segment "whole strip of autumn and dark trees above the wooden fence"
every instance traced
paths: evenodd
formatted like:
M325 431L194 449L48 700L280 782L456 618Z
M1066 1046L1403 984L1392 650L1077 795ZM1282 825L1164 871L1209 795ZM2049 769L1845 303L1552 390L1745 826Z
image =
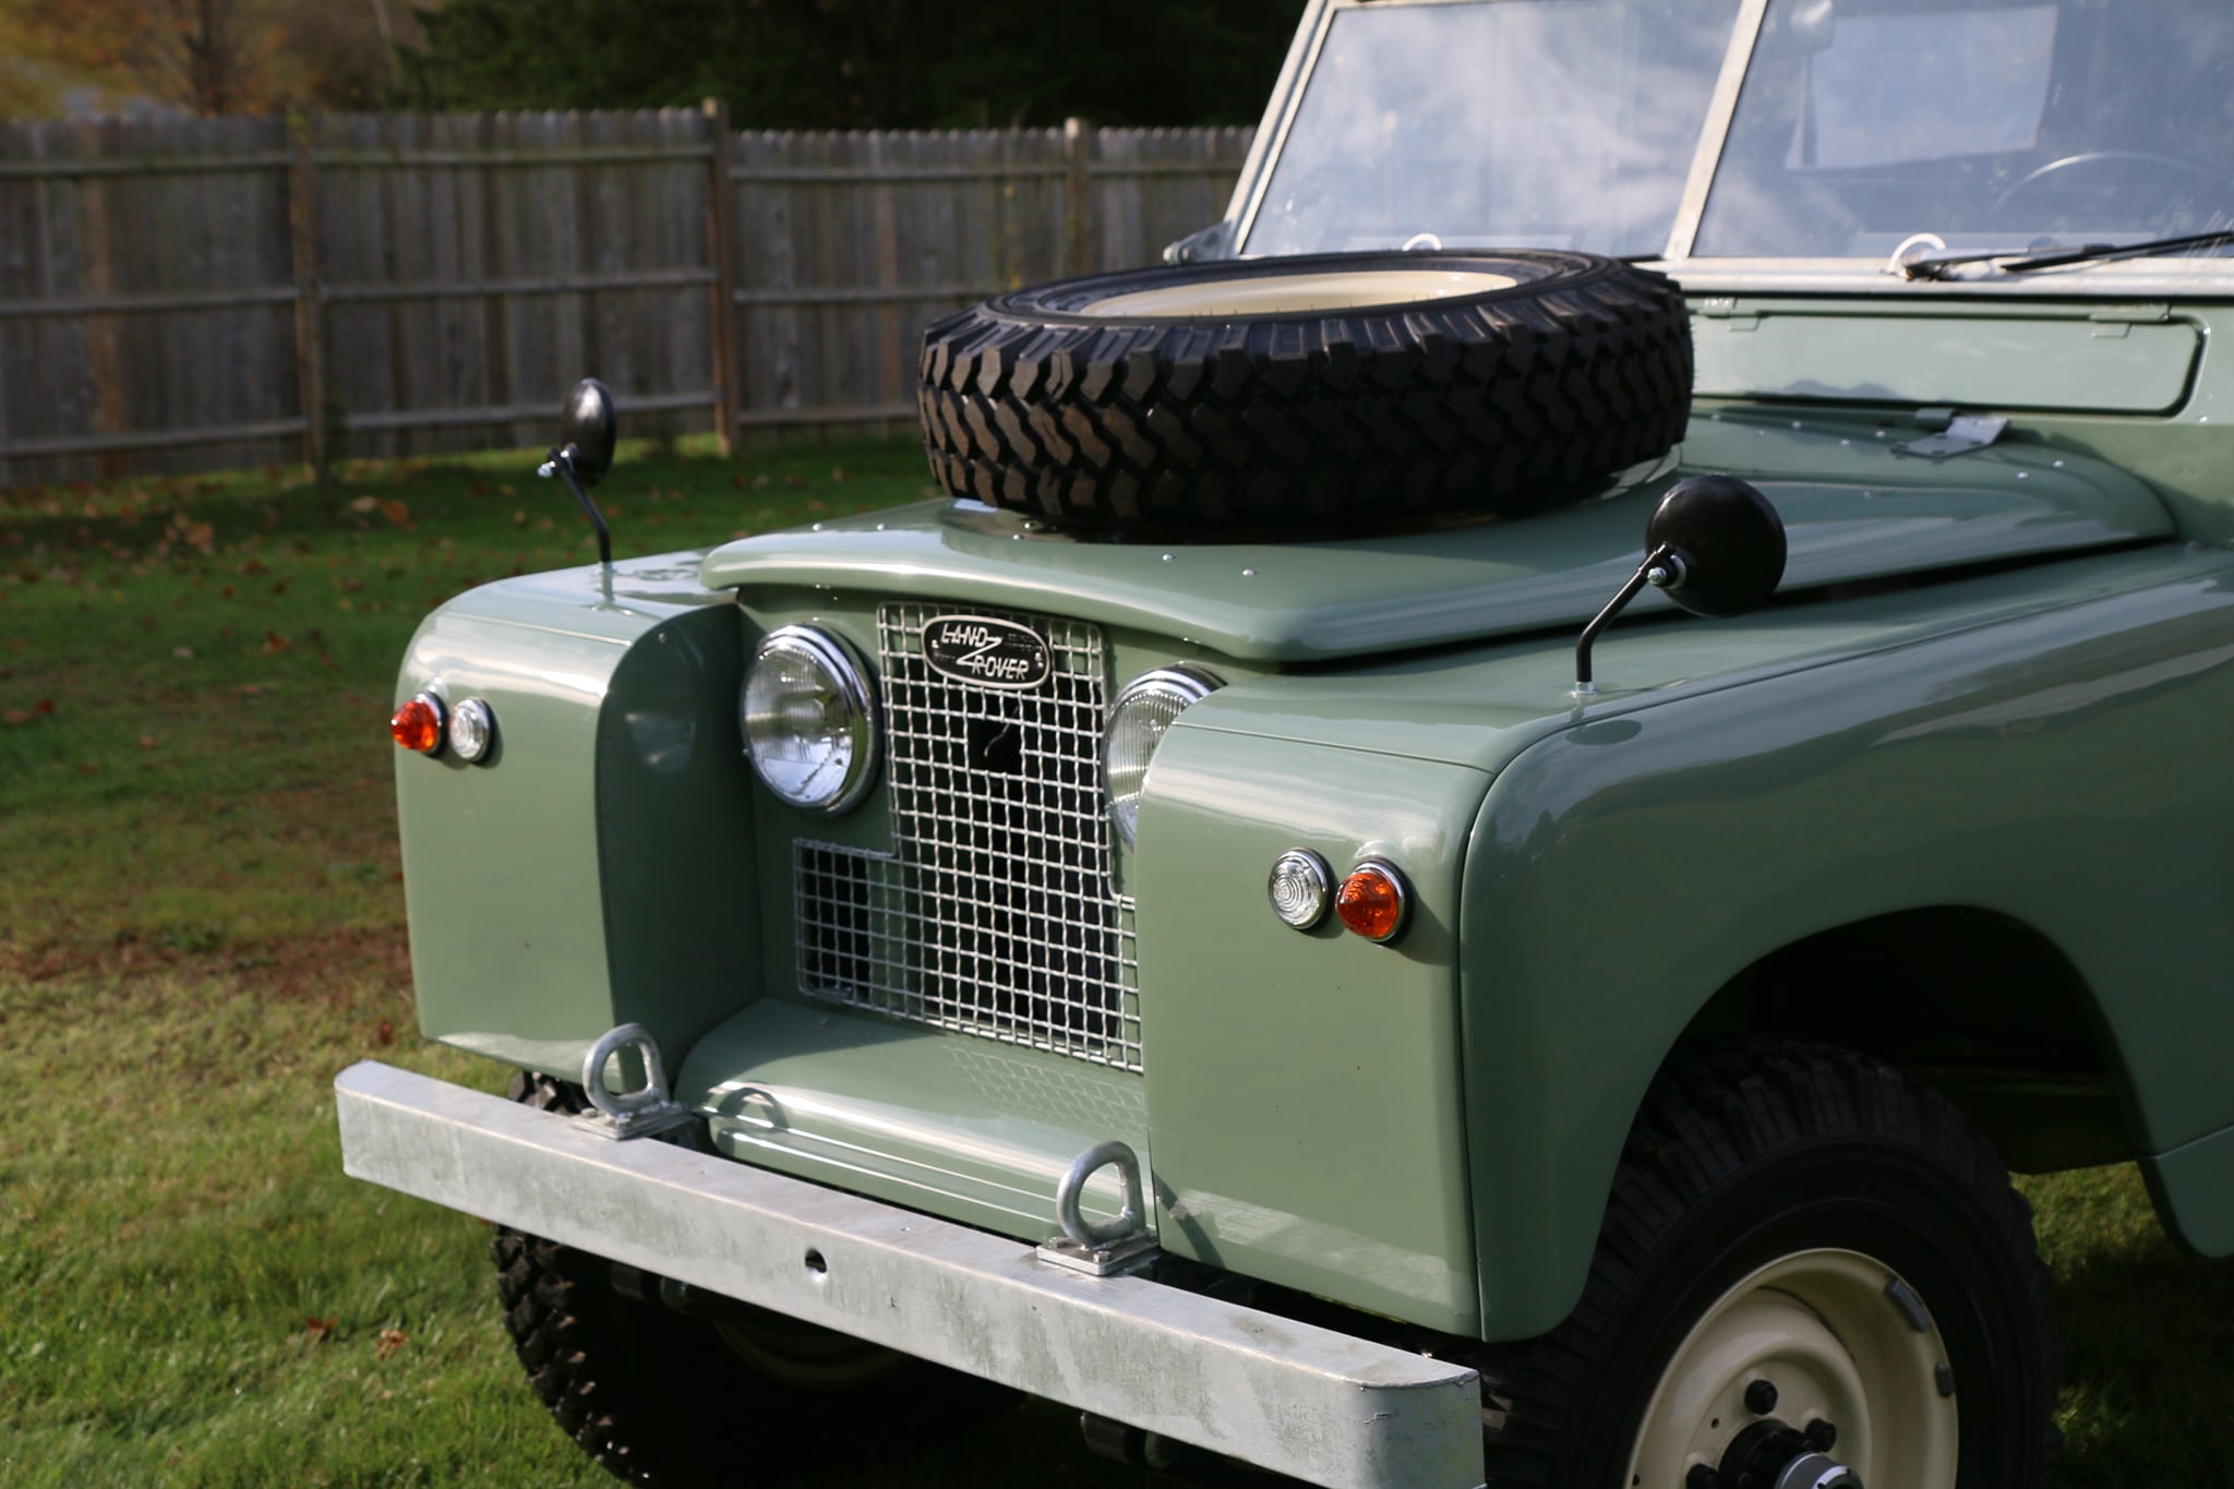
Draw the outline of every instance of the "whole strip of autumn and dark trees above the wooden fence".
M0 116L731 103L746 127L1253 123L1305 0L0 0Z

